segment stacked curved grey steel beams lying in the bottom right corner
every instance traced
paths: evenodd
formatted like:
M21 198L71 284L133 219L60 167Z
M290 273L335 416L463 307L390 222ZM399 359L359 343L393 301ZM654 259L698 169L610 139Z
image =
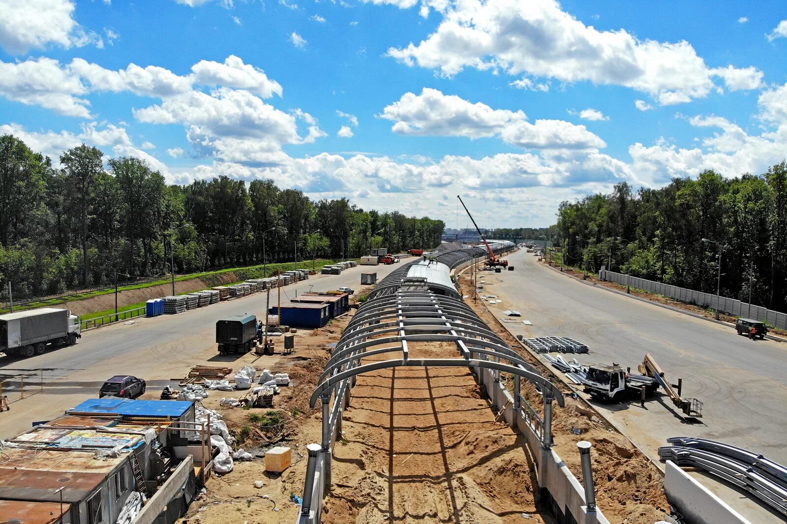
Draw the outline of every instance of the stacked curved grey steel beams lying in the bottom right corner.
M787 515L787 468L744 448L695 437L668 438L662 460L696 467L745 489L781 515Z

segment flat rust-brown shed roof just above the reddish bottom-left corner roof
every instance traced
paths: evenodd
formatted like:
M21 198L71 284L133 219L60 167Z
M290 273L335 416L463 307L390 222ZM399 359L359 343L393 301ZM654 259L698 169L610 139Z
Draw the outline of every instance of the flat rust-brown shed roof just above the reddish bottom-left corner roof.
M6 466L6 464L3 464ZM70 471L13 470L0 467L0 499L77 503L93 493L104 473ZM60 493L54 493L63 488Z

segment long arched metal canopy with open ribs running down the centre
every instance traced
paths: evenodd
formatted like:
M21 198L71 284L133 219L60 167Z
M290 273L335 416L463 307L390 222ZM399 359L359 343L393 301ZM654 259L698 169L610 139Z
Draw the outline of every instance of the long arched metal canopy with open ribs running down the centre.
M511 242L501 242L493 244L492 249L501 253L512 246ZM321 401L323 441L321 445L309 445L301 524L320 522L322 496L331 487L331 451L341 431L343 411L349 407L351 389L357 376L364 373L395 367L468 367L476 377L481 370L491 370L495 382L500 381L501 373L508 373L514 379L515 411L532 421L529 423L543 448L551 448L552 402L557 401L562 407L563 394L490 330L462 301L451 279L453 268L484 259L486 249L471 248L440 253L434 260L403 264L382 279L369 293L368 301L358 308L309 399L312 408L317 400ZM413 271L414 265L420 267ZM450 345L456 351L453 358ZM424 348L449 355L447 358L442 355L432 358L431 354L411 356L411 349L417 353L425 351ZM388 353L397 358L371 359ZM522 379L532 382L542 393L543 418L522 397Z

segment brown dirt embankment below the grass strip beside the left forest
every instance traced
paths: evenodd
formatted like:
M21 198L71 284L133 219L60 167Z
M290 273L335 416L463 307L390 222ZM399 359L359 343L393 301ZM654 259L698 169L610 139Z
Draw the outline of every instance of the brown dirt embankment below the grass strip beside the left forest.
M210 289L212 286L224 286L238 282L238 275L229 271L220 275L212 275L205 279L188 279L175 282L175 293L190 293L191 291L201 291ZM151 298L168 297L172 294L172 283L161 284L161 286L143 287L139 290L125 290L117 293L117 306L120 308L129 304L148 301ZM115 307L115 293L98 295L98 297L84 298L81 301L64 302L58 308L70 309L74 315L86 315L98 311L106 311Z

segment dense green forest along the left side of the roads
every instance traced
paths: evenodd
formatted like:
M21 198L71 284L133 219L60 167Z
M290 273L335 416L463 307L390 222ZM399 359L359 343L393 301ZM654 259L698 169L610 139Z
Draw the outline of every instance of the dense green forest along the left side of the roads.
M364 211L347 199L312 201L271 180L220 176L168 186L134 157L104 163L100 149L65 151L61 168L13 135L0 137L0 296L14 298L179 273L314 256L357 257L372 247L429 248L445 224Z

